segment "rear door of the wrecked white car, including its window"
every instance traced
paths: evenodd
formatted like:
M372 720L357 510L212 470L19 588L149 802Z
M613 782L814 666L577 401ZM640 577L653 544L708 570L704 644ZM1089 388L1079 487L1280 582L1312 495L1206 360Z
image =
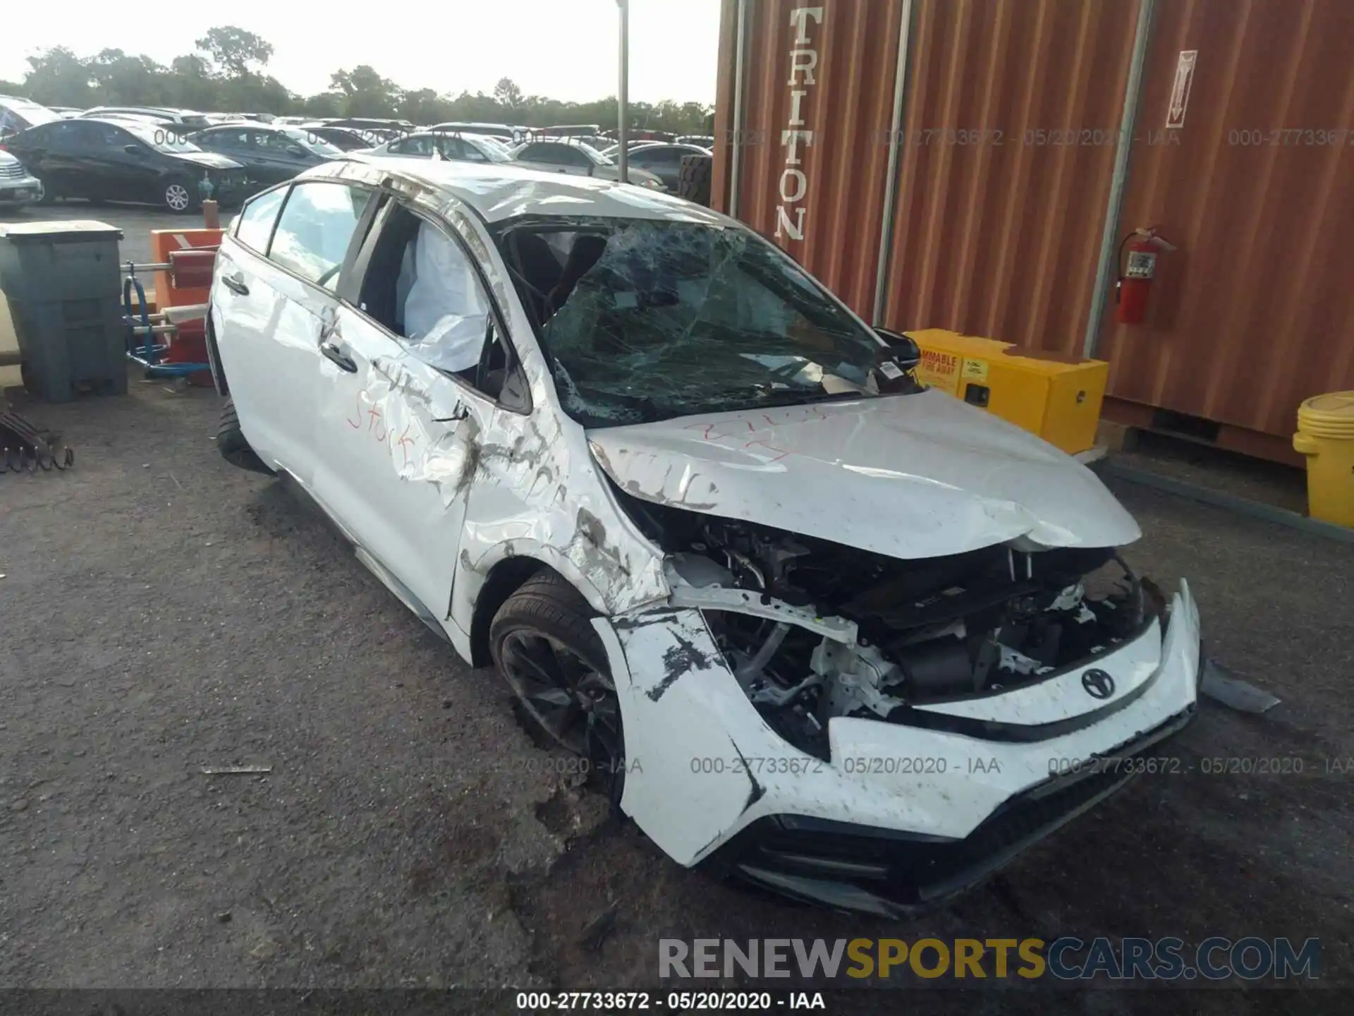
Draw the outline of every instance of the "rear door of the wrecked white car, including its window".
M246 203L217 259L213 325L240 425L265 462L307 486L321 347L371 198L336 180L265 191Z

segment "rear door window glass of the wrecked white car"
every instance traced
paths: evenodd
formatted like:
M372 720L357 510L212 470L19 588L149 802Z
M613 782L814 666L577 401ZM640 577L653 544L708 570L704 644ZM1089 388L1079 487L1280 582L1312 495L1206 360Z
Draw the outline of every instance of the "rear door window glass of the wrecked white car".
M303 279L334 289L368 198L367 191L341 183L297 184L278 218L268 257Z

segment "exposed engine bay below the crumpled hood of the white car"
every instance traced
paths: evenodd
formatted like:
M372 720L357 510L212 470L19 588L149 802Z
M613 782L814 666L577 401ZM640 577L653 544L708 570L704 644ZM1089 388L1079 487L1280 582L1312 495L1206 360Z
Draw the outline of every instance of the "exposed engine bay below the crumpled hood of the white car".
M1033 684L1164 614L1160 591L1112 547L904 561L623 497L751 703L823 759L833 717L906 723L913 706ZM726 591L747 608L720 608Z

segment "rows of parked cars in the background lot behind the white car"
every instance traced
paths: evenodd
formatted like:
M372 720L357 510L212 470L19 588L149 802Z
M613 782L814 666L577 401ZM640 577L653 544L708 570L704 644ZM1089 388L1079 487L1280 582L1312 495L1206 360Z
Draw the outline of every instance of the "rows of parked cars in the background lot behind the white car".
M20 108L28 126L0 140L0 202L79 198L145 202L183 213L207 199L230 206L310 167L356 156L520 163L607 180L620 176L619 145L596 125L536 131L494 123L413 129L389 121L264 123L232 114L135 107L43 117L43 108ZM682 156L709 154L708 146L693 141L705 138L631 141L627 180L676 192Z

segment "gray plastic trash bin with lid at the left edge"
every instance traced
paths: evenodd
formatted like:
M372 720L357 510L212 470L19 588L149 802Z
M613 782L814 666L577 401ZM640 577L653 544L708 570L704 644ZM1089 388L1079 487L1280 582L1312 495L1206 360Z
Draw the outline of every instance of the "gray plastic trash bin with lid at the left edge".
M23 383L49 402L80 391L126 394L118 241L106 222L20 222L0 232L0 290L9 301Z

